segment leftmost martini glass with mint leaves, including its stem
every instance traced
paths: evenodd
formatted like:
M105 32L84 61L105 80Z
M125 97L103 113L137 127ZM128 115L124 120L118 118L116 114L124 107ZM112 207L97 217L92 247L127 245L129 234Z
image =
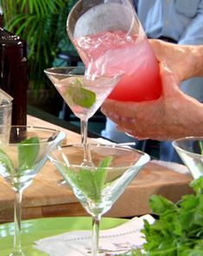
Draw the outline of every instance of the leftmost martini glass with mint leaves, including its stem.
M14 247L10 256L24 256L21 248L22 193L40 171L48 153L65 134L50 128L0 127L0 175L15 191Z

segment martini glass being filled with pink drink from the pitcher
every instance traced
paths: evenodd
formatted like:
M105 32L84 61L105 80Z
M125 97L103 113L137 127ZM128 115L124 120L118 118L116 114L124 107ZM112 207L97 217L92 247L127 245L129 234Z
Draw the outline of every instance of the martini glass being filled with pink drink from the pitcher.
M84 165L91 165L87 144L87 123L105 98L111 93L122 71L111 70L106 74L92 74L84 67L61 67L45 69L48 78L63 97L74 115L80 119L81 143L84 145Z

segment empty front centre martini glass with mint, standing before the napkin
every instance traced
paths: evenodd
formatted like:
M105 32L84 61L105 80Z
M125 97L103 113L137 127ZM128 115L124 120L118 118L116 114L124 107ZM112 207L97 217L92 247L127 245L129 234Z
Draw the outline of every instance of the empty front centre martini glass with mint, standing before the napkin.
M92 167L83 166L83 145L67 145L49 154L73 194L92 215L92 256L98 256L101 216L149 161L149 155L117 145L89 144Z

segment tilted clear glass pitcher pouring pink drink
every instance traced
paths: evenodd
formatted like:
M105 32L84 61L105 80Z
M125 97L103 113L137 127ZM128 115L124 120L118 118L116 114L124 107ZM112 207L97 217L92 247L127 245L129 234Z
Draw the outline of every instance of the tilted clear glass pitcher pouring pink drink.
M85 12L84 8L82 1L74 6L67 32L91 72L124 70L109 98L134 102L158 99L162 94L159 63L131 3L100 1L86 6Z

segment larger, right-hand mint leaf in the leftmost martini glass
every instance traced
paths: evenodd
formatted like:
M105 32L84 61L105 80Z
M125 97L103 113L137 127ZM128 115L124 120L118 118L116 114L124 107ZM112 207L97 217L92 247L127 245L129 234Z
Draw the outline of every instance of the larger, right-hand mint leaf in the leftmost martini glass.
M18 145L18 167L19 171L27 170L33 168L36 158L38 157L40 151L38 137L31 137L19 143ZM23 146L23 144L28 144ZM35 145L29 145L35 144Z

